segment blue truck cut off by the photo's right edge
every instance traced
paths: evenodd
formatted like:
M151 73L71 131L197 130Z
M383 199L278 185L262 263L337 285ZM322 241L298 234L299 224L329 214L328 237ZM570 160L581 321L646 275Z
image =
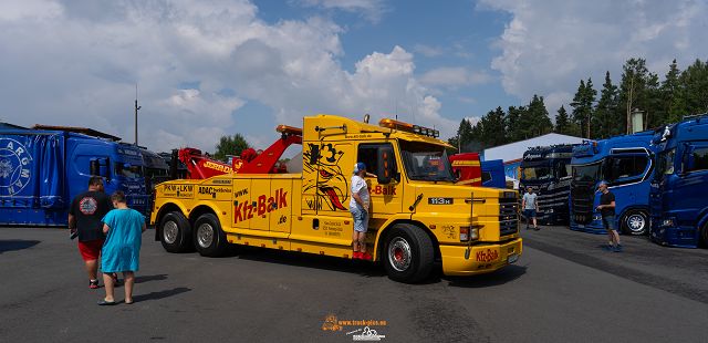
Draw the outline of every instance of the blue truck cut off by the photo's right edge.
M708 247L708 114L656 132L650 238L662 245Z

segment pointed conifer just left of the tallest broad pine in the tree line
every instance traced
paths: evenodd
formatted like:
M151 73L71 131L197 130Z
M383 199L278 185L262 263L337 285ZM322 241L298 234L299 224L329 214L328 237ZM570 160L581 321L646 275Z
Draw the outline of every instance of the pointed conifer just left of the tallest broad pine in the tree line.
M622 134L621 125L623 116L618 112L617 86L612 84L610 72L605 72L605 83L600 92L600 101L595 107L595 115L592 118L593 138L607 138Z

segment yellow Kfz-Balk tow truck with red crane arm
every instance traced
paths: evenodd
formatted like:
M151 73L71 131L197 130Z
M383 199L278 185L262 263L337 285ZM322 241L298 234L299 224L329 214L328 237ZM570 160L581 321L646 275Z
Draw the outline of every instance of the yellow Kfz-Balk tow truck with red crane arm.
M436 262L447 276L486 273L521 256L517 191L455 185L437 131L320 114L278 132L283 142L301 138L287 170L242 173L249 168L235 160L223 175L157 186L150 224L167 251L216 257L242 245L351 259L350 184L364 162L376 175L366 177L367 247L391 279L421 281ZM261 162L273 154L262 155L246 163L250 170L270 170Z

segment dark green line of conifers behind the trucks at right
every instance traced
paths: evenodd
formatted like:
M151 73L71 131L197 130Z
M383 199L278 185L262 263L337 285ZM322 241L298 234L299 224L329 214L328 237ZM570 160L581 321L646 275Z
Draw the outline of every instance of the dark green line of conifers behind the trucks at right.
M628 134L633 124L649 129L708 112L708 62L696 60L681 71L674 60L662 81L647 69L645 59L627 60L622 71L618 84L606 72L600 92L592 77L580 80L570 107L558 108L555 124L543 96L534 94L528 105L497 107L473 124L464 118L448 143L467 153L552 132L602 139ZM633 123L637 116L642 121Z

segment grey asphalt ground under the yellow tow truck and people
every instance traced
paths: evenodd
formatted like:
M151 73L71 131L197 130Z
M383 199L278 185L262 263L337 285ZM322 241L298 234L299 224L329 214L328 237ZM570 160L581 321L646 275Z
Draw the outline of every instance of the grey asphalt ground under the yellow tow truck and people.
M353 342L367 324L382 342L708 342L708 250L643 237L616 253L603 236L522 230L516 264L403 284L320 256L173 254L153 233L135 303L98 306L66 230L0 228L0 342Z

